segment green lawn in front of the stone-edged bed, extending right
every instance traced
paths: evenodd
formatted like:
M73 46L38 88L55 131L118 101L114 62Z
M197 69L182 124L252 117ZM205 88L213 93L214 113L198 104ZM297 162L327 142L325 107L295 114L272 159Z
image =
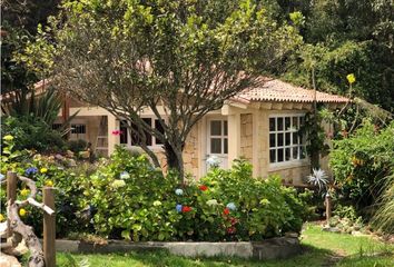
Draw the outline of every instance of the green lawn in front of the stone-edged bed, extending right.
M287 260L256 261L238 258L184 258L165 251L126 255L58 254L58 266L128 267L128 266L394 266L394 246L370 237L324 233L306 225L302 244L304 254Z

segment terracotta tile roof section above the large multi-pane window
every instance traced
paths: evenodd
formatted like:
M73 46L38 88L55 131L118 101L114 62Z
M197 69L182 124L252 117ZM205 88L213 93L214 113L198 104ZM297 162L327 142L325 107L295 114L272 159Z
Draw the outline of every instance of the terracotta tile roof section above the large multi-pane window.
M257 88L248 88L236 96L240 101L279 101L279 102L313 102L314 90L307 90L290 83L272 79ZM316 92L318 102L347 102L348 99L337 95Z

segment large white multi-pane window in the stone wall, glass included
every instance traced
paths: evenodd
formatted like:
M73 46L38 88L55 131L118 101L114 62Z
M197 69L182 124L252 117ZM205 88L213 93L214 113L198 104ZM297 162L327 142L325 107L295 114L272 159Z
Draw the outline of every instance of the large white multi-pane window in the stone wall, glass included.
M305 158L305 138L299 134L304 115L269 117L269 162L280 164Z

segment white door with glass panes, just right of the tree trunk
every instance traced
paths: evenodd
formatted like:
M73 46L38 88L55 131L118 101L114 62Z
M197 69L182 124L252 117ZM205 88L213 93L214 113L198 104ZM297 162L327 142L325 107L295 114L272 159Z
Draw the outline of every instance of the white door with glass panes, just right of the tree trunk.
M207 160L215 158L223 169L228 168L228 121L226 117L207 119ZM206 162L206 168L209 164Z

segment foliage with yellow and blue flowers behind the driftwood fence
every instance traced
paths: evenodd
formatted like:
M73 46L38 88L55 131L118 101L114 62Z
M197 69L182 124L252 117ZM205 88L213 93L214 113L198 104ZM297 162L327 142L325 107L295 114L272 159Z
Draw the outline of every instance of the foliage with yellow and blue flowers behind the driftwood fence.
M89 230L82 218L77 217L79 200L83 197L80 186L83 185L87 174L78 175L77 170L68 169L67 165L56 160L52 156L41 156L29 150L17 150L18 139L3 137L3 147L1 154L0 172L6 175L7 171L16 171L19 175L27 176L36 181L36 186L40 191L45 185L52 184L57 190L56 195L56 220L57 236L67 236L70 231ZM29 174L29 169L35 171ZM35 172L35 174L33 174ZM18 199L26 199L23 194L26 185L18 184ZM6 210L6 190L1 188L1 210ZM42 201L42 195L37 195L37 200ZM27 216L22 217L23 221L35 228L35 233L40 236L42 233L42 212L37 208L28 206Z

